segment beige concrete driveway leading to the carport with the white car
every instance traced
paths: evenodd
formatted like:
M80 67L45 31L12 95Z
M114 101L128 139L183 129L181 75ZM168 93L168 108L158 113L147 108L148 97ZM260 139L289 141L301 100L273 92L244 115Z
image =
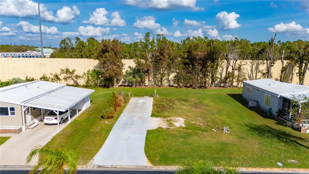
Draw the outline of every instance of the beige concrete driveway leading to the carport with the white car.
M83 111L83 110L82 110ZM80 114L82 111L78 111ZM71 121L76 118L76 110L72 110ZM60 124L60 130L69 124L68 119ZM34 129L26 129L19 134L2 133L2 137L11 137L0 146L0 165L26 165L26 159L30 150L36 145L44 146L53 136L58 133L57 124L44 125L43 121ZM29 165L36 165L38 157L34 158Z

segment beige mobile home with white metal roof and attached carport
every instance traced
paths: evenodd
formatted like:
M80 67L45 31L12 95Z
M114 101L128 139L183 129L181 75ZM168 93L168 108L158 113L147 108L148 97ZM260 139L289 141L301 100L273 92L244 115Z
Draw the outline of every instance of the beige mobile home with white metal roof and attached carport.
M93 89L47 81L33 81L0 88L0 133L34 128L47 111L85 110ZM59 120L57 118L57 120ZM69 117L70 123L70 117ZM59 122L58 122L59 131Z

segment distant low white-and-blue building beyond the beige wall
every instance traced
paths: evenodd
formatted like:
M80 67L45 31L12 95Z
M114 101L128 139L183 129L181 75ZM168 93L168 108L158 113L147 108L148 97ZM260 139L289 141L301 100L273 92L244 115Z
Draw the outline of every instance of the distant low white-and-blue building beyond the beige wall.
M44 48L43 54L44 58L49 58L50 54L54 52L53 49ZM34 51L27 51L27 52L0 52L0 57L4 58L39 58L41 57L41 49L35 48Z

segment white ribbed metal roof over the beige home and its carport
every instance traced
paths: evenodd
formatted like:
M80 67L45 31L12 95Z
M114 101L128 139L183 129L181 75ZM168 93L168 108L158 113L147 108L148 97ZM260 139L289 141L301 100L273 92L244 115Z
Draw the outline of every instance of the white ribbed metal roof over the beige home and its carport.
M0 102L66 111L93 92L93 89L33 81L0 88Z

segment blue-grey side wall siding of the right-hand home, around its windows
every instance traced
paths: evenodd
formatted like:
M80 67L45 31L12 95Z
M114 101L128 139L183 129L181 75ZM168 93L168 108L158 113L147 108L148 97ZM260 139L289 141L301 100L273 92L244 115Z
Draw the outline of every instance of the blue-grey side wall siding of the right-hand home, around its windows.
M246 86L252 88L252 94L248 94L246 92ZM243 98L246 99L246 100L256 100L258 102L257 106L260 107L262 110L267 111L269 109L269 107L264 105L264 95L268 94L271 97L270 98L270 107L272 108L273 115L277 115L277 111L278 111L279 104L280 104L280 102L279 102L280 98L278 98L277 96L275 96L271 93L265 92L261 89L258 89L258 90L259 91L256 91L256 88L254 86L243 84ZM281 106L282 106L282 101L281 101Z

